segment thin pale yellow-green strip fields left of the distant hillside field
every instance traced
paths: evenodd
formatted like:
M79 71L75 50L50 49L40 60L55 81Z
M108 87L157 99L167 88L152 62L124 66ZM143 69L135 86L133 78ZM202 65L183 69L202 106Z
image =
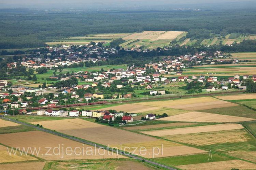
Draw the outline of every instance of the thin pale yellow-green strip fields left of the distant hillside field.
M54 40L53 42L47 42L47 45L86 45L90 44L90 41L109 43L117 38L124 38L131 33L117 33L117 34L91 34L82 37L69 37L65 39Z

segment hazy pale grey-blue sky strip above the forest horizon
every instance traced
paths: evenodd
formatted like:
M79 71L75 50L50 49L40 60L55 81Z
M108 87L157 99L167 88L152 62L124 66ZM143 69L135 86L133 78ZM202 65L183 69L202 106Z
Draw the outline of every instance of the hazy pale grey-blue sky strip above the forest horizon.
M28 7L28 8L159 8L159 7L200 7L211 4L218 6L230 4L234 6L255 3L252 0L0 0L0 8Z

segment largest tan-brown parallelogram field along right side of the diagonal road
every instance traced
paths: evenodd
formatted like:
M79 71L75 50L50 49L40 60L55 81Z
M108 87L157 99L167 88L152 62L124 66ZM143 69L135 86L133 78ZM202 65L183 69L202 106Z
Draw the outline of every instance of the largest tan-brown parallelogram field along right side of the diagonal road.
M37 122L33 123L37 124ZM125 149L127 152L134 151L134 148L132 147L145 147L147 149L146 155L142 155L139 150L134 151L134 154L147 158L154 157L153 147L160 147L162 144L165 150L164 153L155 155L155 157L205 152L204 150L183 146L178 143L160 140L146 135L125 131L82 119L66 119L38 123L42 124L44 128L56 130L60 133L96 142L101 145L109 145L110 147L116 147L119 149L130 147Z

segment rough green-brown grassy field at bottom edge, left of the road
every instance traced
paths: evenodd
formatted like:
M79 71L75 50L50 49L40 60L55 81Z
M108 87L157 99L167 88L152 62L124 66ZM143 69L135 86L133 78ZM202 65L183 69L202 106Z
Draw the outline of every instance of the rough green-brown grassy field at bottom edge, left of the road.
M149 164L143 164L136 160L72 160L72 161L57 161L47 162L45 165L47 169L141 169L151 170L157 169Z

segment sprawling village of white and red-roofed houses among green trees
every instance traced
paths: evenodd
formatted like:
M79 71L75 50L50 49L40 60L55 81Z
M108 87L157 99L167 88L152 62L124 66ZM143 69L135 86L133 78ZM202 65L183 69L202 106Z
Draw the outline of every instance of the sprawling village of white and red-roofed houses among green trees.
M98 43L97 43L98 44ZM133 50L133 49L132 49ZM165 50L165 49L159 49ZM0 102L1 110L11 114L11 109L18 109L18 114L31 114L33 107L54 107L57 105L90 103L101 100L110 101L121 99L145 98L145 96L157 97L165 95L177 95L169 90L173 83L182 82L179 89L187 90L185 93L214 92L223 90L246 90L245 80L252 79L256 82L256 75L233 75L223 78L215 75L183 75L186 69L195 65L214 65L222 62L226 64L237 64L239 60L225 60L230 57L220 51L200 52L195 55L166 56L157 63L147 63L144 67L127 66L126 68L113 68L108 70L66 72L61 71L69 66L76 65L80 68L91 63L99 63L108 60L108 55L116 53L117 49L105 49L104 47L87 46L61 46L47 47L47 53L35 53L37 57L21 58L21 65L26 69L37 70L42 75L48 70L55 70L53 75L42 78L52 83L43 83L39 87L28 87L24 85L13 85L9 80L0 80ZM147 52L147 50L143 51ZM88 55L89 54L89 55ZM91 57L94 56L95 57ZM104 55L105 54L105 55ZM90 57L88 57L88 56ZM104 55L101 57L100 55ZM59 57L55 57L59 56ZM17 63L9 63L8 67L13 69ZM59 72L57 72L59 69ZM35 75L35 74L34 74ZM23 80L17 80L23 81ZM47 82L47 81L46 81ZM81 84L84 83L84 84ZM141 92L134 92L140 90ZM27 108L27 109L26 109ZM42 111L39 115L51 116L83 116L79 112L51 112ZM105 113L100 113L102 117ZM111 115L105 115L109 116ZM114 116L113 116L114 118Z

